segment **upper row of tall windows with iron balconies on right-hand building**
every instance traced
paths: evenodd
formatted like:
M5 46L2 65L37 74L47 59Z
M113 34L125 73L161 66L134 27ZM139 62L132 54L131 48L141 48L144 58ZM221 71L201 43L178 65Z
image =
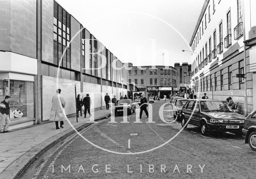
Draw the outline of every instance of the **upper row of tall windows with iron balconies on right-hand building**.
M242 9L241 9L241 0L238 0L238 25L234 28L234 39L238 40L243 35L243 25L242 25ZM226 22L227 22L227 36L224 38L224 47L229 48L231 43L231 14L230 10L226 13ZM199 31L200 32L200 31ZM200 33L201 36L201 33ZM195 41L196 42L196 41ZM192 44L192 52L194 52L196 43ZM205 46L202 47L202 51L198 53L198 56L193 62L193 72L192 75L197 73L202 69L208 62L211 62L212 59L217 57L217 53L221 54L223 52L223 32L222 32L222 20L219 23L219 44L216 44L216 29L213 32L213 50L212 50L212 37L209 37L209 41L206 42ZM198 41L197 41L198 43ZM209 44L209 46L208 46ZM216 46L217 45L217 46ZM208 48L209 47L209 48ZM208 55L209 52L209 55ZM204 56L205 55L205 56Z

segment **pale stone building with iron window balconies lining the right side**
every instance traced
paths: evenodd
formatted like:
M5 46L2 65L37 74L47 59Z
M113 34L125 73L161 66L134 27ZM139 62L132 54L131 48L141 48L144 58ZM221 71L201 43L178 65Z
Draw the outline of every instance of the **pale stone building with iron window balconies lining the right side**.
M243 5L244 3L244 5ZM202 97L226 100L231 96L239 102L238 110L244 112L248 101L248 112L256 107L256 14L252 0L205 0L196 28L190 41L192 51L193 90ZM244 66L244 43L246 66ZM254 47L251 47L253 46ZM244 94L245 79L236 74L245 74L247 98Z

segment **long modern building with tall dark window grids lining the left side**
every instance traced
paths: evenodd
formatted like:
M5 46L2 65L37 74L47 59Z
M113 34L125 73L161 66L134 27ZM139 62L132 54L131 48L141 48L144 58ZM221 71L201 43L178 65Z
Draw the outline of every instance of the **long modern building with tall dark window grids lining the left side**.
M11 110L23 113L10 130L48 120L57 88L68 116L76 113L74 85L96 109L105 105L101 92L127 93L124 64L54 0L2 1L0 22L0 100L11 96Z

